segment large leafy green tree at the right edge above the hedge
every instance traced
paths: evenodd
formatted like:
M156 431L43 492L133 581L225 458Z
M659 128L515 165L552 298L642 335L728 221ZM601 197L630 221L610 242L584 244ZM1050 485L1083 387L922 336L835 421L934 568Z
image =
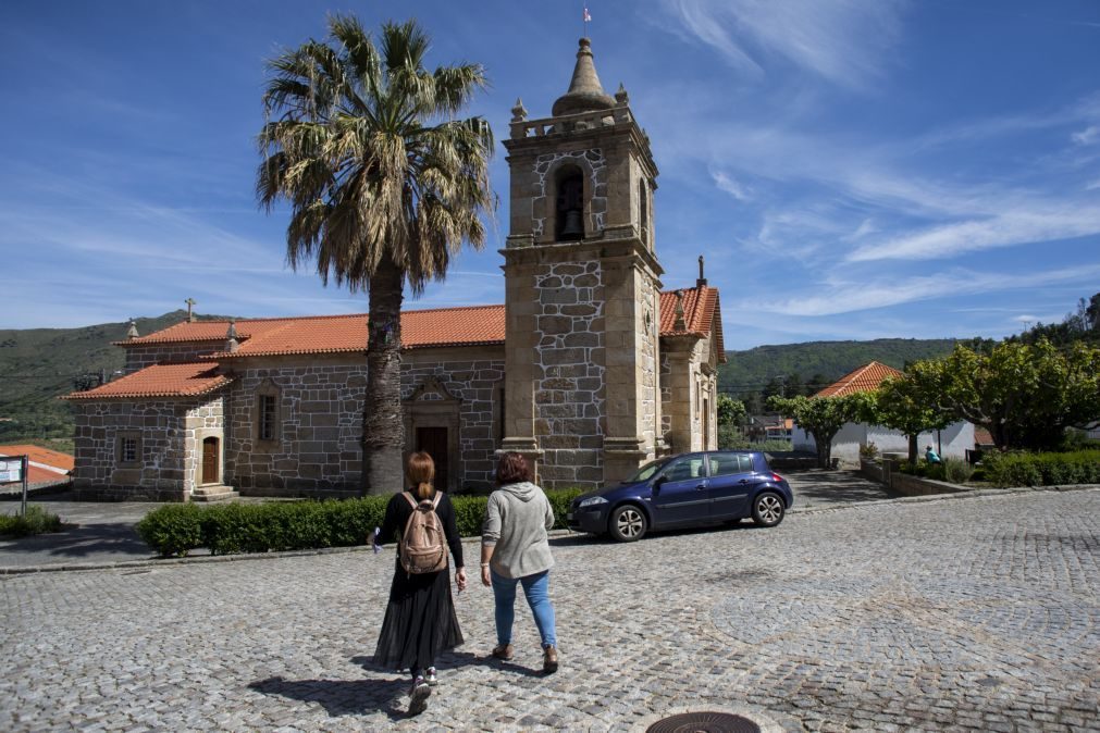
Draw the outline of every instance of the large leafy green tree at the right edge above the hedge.
M1001 451L1055 448L1066 427L1100 419L1100 349L1080 342L1058 351L1045 338L1005 341L988 353L960 344L908 377L936 397L936 411L986 427Z

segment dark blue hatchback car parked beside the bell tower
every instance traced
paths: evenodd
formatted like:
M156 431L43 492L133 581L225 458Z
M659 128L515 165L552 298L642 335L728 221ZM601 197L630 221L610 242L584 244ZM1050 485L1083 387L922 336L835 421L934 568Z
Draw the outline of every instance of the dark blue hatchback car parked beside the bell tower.
M759 526L776 526L793 503L791 486L759 451L706 451L659 458L618 486L582 495L565 520L575 532L634 542L650 529L746 517Z

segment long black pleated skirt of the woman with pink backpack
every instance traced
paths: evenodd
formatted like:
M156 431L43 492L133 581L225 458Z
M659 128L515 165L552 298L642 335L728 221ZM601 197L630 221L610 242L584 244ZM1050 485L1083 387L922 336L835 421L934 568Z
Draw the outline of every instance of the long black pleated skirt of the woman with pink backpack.
M450 565L439 573L410 575L397 562L374 663L389 669L427 669L440 652L462 641Z

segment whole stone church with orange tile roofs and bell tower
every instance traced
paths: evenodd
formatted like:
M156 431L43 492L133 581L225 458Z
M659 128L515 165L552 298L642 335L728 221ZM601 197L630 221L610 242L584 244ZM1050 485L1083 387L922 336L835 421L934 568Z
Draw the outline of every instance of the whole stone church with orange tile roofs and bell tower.
M718 292L702 257L694 287L662 290L649 138L626 90L604 91L587 38L551 115L517 101L504 145L505 302L402 314L407 449L462 491L492 486L501 449L547 488L591 488L714 448ZM365 314L131 329L124 375L65 398L77 493L356 493L366 335Z

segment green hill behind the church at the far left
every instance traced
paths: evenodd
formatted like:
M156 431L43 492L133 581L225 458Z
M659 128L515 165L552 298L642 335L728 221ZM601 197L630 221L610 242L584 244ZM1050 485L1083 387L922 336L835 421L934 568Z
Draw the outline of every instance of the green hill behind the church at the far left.
M199 315L222 320L224 315ZM150 334L187 319L180 309L135 320ZM122 368L125 354L111 342L124 341L129 322L81 329L0 330L0 443L13 440L72 438L73 417L58 400L81 380L98 384L100 374Z

